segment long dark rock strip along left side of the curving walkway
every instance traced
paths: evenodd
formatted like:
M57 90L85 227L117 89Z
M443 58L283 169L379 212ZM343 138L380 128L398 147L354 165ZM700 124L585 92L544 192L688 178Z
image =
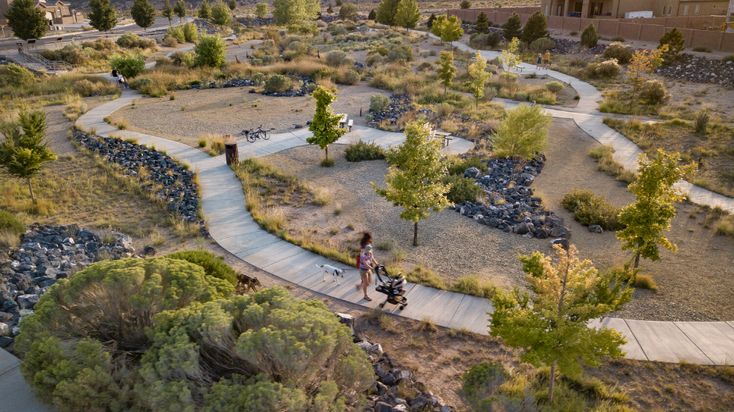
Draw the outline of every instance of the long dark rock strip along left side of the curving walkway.
M139 144L113 137L92 136L80 130L75 130L73 136L86 149L117 164L126 175L140 180L143 190L154 193L169 211L186 222L201 223L194 172L168 155Z

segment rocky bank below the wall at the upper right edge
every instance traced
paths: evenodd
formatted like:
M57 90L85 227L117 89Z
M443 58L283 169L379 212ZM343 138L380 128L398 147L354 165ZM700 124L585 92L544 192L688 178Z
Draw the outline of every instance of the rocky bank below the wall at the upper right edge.
M679 61L662 66L657 73L675 80L734 87L734 61L683 54Z

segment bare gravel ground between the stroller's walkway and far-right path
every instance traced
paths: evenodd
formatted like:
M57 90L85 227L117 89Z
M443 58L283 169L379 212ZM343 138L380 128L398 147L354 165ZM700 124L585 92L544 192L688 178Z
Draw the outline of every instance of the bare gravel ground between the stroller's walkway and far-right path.
M588 232L560 205L563 196L573 189L592 190L617 206L633 200L623 184L596 170L596 163L587 155L596 144L571 121L554 120L546 151L548 161L534 189L551 210L565 219L581 256L604 269L624 264L630 254L620 249L614 233ZM353 242L354 233L368 230L375 237L378 260L404 255L408 267L424 265L446 279L478 275L502 287L523 285L518 254L550 252L546 240L505 234L450 210L432 214L420 223L421 245L413 248L411 225L400 219L400 209L378 197L370 186L373 181L383 184L386 164L348 163L343 151L343 146L330 150L336 159L335 167L330 169L318 166L322 153L314 147L295 148L263 159L331 192L332 203L323 208L284 208L289 226L316 230L314 236L331 243ZM338 214L334 213L336 209ZM705 227L705 214L699 209L685 204L679 207L669 233L678 245L678 253L663 251L661 261L643 261L641 265L643 273L655 278L657 292L638 290L620 316L655 320L734 318L734 239L714 235Z

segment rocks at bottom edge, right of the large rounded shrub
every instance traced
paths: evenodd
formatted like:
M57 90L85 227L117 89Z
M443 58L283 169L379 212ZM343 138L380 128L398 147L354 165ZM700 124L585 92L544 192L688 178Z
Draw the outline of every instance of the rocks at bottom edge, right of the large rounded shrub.
M365 351L377 376L367 395L366 412L454 411L427 390L425 384L416 381L413 372L394 362L379 343L369 342L355 334L352 316L342 313L337 313L337 316L352 329L354 342Z

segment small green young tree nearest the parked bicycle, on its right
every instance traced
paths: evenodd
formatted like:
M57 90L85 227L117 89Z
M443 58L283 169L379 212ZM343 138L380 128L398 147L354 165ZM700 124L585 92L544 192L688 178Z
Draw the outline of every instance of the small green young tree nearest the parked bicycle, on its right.
M312 94L316 100L316 113L313 115L308 130L313 136L306 139L309 144L316 144L324 151L324 166L329 165L329 145L339 140L347 132L347 129L339 126L341 116L334 114L331 103L336 95L324 87L317 87Z

